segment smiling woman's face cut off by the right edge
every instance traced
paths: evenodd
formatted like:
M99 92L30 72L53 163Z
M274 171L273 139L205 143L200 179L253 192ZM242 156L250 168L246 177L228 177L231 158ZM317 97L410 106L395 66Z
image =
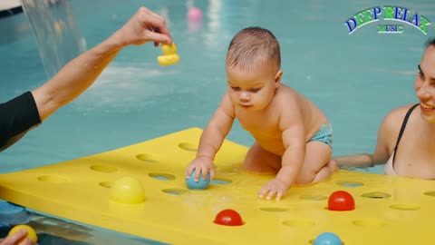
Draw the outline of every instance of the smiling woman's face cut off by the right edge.
M430 45L423 54L419 69L414 87L420 100L421 117L435 123L435 45Z

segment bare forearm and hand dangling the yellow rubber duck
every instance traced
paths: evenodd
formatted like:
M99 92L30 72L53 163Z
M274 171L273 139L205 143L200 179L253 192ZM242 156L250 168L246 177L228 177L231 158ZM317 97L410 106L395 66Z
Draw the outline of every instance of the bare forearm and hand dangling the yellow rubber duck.
M50 81L32 91L41 121L91 86L123 47L150 41L155 45L172 43L165 19L148 8L141 7L102 44L73 59Z

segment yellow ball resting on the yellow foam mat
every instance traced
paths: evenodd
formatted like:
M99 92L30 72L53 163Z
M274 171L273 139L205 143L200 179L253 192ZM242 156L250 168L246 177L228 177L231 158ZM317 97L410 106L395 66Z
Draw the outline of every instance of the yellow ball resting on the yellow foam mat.
M111 201L136 204L145 199L140 181L132 177L123 177L111 186Z

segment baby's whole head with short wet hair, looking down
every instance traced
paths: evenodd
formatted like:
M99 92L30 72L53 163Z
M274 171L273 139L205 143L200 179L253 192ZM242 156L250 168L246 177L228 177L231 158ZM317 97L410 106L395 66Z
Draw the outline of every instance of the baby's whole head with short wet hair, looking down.
M231 40L227 52L228 94L235 106L265 108L281 82L279 43L269 30L247 27Z

